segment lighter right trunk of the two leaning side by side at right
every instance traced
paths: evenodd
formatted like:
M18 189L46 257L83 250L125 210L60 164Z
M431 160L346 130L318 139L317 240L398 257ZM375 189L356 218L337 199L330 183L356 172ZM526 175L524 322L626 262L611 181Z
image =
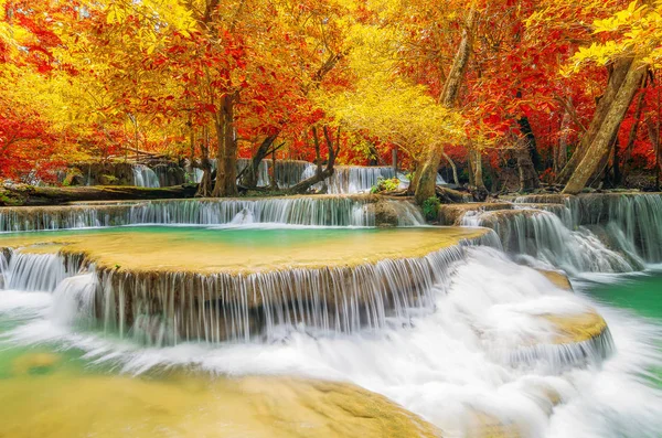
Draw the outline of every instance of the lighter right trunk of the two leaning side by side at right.
M639 60L630 62L628 73L609 106L597 135L594 137L584 153L584 158L573 172L570 180L563 191L564 193L579 193L586 186L591 174L598 169L605 154L609 153L611 141L618 133L618 129L620 128L637 90L641 86L641 81L645 73L647 68Z

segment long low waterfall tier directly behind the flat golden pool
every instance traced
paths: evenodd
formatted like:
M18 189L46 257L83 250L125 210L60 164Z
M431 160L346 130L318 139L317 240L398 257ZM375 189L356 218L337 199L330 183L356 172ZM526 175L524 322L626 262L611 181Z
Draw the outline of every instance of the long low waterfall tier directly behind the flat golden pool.
M238 223L412 226L423 225L425 221L410 202L375 195L162 200L0 209L0 233L137 224Z

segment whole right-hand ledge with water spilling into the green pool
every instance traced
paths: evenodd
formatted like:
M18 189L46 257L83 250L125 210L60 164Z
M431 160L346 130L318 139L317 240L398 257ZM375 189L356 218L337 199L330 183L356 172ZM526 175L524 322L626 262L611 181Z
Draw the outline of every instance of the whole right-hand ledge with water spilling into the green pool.
M570 273L626 273L662 260L662 195L521 196L442 206L446 224L487 226L503 248Z

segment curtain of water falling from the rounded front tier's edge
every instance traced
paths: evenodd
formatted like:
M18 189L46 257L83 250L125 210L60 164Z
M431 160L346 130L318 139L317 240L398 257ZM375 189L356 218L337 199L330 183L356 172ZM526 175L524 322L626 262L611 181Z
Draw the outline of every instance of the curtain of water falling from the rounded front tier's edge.
M82 257L14 250L6 275L7 289L53 292L60 323L99 319L108 333L159 345L270 342L301 324L319 334L353 333L433 312L465 253L458 245L356 266L197 275L99 269Z

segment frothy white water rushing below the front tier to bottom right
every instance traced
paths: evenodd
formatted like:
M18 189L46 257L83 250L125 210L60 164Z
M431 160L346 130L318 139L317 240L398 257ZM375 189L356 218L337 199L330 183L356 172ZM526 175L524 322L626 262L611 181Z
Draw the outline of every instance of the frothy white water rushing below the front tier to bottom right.
M78 348L93 363L114 363L128 373L188 365L229 375L350 381L424 416L445 437L465 436L477 410L515 425L523 437L658 436L662 395L645 377L650 368L662 366L659 327L563 292L495 250L467 250L448 293L437 293L434 312L412 317L406 327L394 318L377 332L312 334L289 328L268 344L154 349L67 330L44 316L25 321L6 339ZM523 340L545 341L554 334L536 316L551 310L574 314L587 307L597 308L611 327L617 350L606 361L558 367L544 356L519 365L504 359ZM549 394L560 404L554 406Z

